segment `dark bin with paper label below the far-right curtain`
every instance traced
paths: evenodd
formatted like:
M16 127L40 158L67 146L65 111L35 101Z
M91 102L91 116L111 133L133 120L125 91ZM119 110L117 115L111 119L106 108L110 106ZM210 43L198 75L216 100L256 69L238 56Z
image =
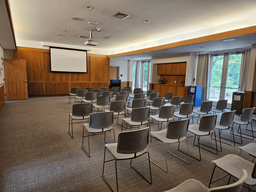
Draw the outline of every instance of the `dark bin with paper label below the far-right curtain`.
M235 114L242 115L244 105L244 92L234 91L232 96L231 110L236 110Z

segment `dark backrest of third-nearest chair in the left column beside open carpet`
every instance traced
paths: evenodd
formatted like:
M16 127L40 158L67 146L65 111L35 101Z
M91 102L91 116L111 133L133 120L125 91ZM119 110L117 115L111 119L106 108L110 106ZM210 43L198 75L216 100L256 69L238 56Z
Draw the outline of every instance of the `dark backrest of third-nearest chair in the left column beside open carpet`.
M72 107L72 115L85 117L93 113L93 104L92 103L81 103L81 104L73 104Z

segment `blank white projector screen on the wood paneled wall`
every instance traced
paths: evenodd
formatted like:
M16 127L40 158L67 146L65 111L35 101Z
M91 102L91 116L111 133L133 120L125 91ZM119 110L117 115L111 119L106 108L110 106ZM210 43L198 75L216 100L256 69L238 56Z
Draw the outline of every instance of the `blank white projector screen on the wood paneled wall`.
M50 47L51 72L87 73L87 52L67 48Z

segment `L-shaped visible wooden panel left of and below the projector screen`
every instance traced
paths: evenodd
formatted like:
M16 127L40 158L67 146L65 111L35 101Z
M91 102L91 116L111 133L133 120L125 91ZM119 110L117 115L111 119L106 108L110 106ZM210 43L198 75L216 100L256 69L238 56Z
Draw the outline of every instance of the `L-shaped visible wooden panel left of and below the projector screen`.
M50 54L44 54L44 72L46 82L69 82L69 73L50 71Z

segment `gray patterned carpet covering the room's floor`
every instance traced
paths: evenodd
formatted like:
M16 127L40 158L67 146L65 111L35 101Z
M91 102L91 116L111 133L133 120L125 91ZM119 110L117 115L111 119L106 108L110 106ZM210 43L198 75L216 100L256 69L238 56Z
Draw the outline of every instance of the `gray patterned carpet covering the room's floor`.
M90 137L91 157L88 158L81 149L83 123L74 124L73 139L68 134L68 117L71 112L72 105L68 103L68 97L6 101L0 111L1 192L110 192L109 187L101 178L104 135ZM120 117L119 123L122 119L122 116ZM116 119L113 127L117 141L121 126L116 124ZM255 121L253 127L256 127ZM235 131L237 128L236 125ZM157 131L157 125L151 126L151 130ZM188 133L187 136L191 135ZM230 132L223 132L223 136L230 137ZM236 140L238 139L236 137ZM211 140L209 136L201 140L202 143L214 146L214 140ZM113 143L113 141L113 132L107 132L106 142ZM198 156L198 148L193 145L194 139L190 138L188 141L191 155ZM255 141L243 139L243 145L250 142ZM152 144L154 143L158 141L152 139ZM177 151L177 144L169 146L169 149L176 155L188 160L187 155ZM152 185L130 168L130 161L120 161L117 163L119 190L123 192L163 192L187 179L200 180L208 186L213 170L211 160L227 154L239 155L238 146L242 145L236 144L233 147L222 144L222 152L218 155L202 149L202 160L191 158L190 165L168 154L168 173L151 163ZM87 138L85 138L86 150L87 147ZM181 143L181 149L186 151L186 142ZM250 158L245 154L242 157ZM107 153L106 158L110 159L111 155ZM150 158L165 166L163 145L150 148ZM133 165L149 178L147 162L146 156L142 156L135 159ZM105 174L106 180L115 189L114 162L106 164ZM217 170L214 178L222 175L224 173ZM225 178L212 184L211 187L226 185L227 181L228 178ZM243 191L247 189L244 187Z

